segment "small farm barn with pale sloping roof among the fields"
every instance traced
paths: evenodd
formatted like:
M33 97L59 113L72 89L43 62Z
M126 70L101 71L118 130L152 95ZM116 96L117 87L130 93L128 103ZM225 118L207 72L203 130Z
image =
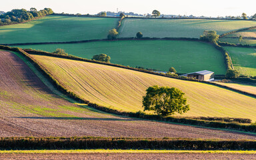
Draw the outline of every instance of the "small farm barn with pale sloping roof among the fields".
M197 71L197 72L193 72L193 73L187 73L187 74L181 75L181 76L191 77L191 78L195 78L195 79L199 79L199 80L203 80L203 81L214 81L214 72L207 71L207 70Z

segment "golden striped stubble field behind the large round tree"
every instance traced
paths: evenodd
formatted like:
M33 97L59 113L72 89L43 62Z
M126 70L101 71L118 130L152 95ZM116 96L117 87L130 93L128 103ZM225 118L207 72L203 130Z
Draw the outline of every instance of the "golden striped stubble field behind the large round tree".
M241 117L255 121L256 99L213 85L182 81L107 65L33 55L69 91L83 99L123 111L141 111L152 85L185 92L191 111L183 116Z

